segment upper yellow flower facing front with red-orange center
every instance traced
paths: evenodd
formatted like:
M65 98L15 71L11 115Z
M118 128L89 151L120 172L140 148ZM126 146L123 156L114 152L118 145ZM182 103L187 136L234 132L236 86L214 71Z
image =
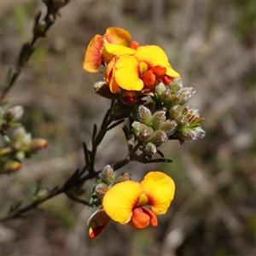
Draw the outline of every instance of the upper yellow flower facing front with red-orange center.
M113 93L118 92L119 87L141 91L154 87L160 81L169 84L179 76L159 46L139 46L133 54L125 53L126 49L115 49L115 45L107 49L108 53L115 55L105 73L105 79Z

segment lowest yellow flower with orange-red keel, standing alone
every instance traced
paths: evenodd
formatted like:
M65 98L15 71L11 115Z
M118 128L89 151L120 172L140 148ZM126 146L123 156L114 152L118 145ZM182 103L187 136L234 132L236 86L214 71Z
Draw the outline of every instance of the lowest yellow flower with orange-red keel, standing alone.
M175 184L163 172L148 172L141 183L115 184L103 197L102 206L114 221L130 223L138 230L156 227L156 215L165 214L174 197ZM152 211L144 206L150 206Z

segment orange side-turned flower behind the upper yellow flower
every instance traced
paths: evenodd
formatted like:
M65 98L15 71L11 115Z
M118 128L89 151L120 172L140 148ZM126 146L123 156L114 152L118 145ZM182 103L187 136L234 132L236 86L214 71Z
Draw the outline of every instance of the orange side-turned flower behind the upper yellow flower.
M108 27L103 36L96 34L96 36L91 39L85 52L83 63L84 70L90 73L96 73L101 64L111 61L113 54L106 51L105 46L107 44L128 46L130 41L130 33L119 27Z

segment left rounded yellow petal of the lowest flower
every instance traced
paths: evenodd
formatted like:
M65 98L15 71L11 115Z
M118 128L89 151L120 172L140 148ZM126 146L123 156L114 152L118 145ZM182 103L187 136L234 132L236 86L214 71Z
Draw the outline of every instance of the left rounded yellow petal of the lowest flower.
M141 192L140 183L117 183L104 195L102 206L110 218L120 224L126 224L131 219L133 208L137 207Z

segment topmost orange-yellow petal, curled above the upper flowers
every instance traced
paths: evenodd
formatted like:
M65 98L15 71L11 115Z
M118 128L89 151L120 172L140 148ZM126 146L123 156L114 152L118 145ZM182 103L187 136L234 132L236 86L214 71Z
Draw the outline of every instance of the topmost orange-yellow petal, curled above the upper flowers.
M120 44L128 46L131 41L131 34L123 28L108 27L104 38L108 40L110 44Z

